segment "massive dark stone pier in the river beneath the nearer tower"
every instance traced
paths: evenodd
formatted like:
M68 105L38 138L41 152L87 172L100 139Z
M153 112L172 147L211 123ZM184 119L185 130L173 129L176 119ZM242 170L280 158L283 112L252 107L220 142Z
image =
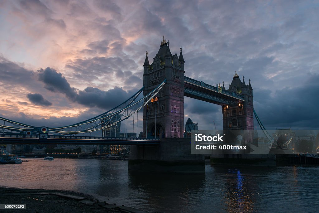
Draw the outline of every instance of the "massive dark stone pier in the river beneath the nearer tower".
M204 155L190 154L190 138L163 138L159 145L131 145L130 171L204 173Z

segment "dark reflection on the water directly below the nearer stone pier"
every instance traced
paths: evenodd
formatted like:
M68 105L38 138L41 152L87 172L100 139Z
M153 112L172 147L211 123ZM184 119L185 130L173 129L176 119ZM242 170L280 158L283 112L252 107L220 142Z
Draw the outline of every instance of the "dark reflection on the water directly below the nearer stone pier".
M129 171L128 187L155 209L187 212L205 194L205 174L154 174Z

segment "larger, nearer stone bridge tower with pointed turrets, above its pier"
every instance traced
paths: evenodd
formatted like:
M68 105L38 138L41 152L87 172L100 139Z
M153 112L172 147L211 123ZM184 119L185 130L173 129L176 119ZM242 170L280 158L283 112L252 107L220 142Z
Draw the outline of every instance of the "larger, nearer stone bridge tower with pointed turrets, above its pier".
M156 98L144 107L143 136L147 138L182 138L184 136L184 58L171 54L169 41L163 36L160 48L150 65L148 53L144 63L144 95L166 78Z

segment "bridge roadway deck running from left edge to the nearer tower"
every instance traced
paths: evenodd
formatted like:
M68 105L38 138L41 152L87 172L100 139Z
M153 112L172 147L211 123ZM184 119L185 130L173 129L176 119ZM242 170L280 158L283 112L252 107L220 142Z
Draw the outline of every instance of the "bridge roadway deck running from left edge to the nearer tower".
M159 144L159 139L63 135L0 134L0 144Z

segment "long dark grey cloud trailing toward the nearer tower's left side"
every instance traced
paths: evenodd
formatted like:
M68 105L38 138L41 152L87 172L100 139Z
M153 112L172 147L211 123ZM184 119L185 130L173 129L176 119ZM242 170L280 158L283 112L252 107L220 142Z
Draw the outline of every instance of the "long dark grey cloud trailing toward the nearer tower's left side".
M77 102L88 107L110 109L122 103L130 97L130 94L122 88L115 87L108 91L102 91L95 87L87 87L83 91L71 87L61 73L50 67L39 70L39 80L44 87L52 92L66 95L72 102Z

